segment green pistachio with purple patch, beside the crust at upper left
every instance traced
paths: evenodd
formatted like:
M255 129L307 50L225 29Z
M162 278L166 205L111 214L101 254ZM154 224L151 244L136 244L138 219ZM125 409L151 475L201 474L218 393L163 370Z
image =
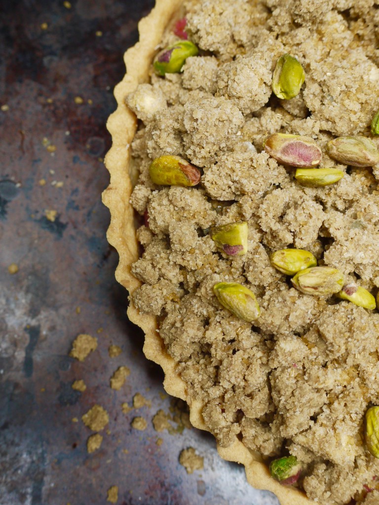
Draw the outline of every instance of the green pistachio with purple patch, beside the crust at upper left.
M166 47L154 59L154 70L158 75L176 74L180 72L185 60L190 56L198 56L199 49L189 40L178 40Z

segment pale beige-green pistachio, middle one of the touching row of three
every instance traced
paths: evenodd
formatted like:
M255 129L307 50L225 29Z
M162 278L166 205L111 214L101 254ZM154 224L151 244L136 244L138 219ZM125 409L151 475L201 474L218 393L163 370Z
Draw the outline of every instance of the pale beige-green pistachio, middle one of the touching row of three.
M291 281L302 293L326 296L341 291L344 276L337 268L312 267L301 270Z

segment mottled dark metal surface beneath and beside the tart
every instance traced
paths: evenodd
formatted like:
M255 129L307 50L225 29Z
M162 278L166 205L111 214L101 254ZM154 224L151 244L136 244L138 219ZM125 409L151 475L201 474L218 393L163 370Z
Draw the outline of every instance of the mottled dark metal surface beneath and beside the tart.
M0 505L105 504L111 485L119 505L278 503L252 489L241 466L222 461L210 435L154 431L151 419L158 409L169 412L170 398L114 279L117 254L101 203L105 123L123 52L152 4L1 3ZM68 357L79 333L99 342L84 363ZM123 350L112 360L111 343ZM131 374L114 391L109 378L121 365ZM84 379L84 393L71 388L75 379ZM136 392L152 407L123 414L121 403ZM109 433L88 455L91 432L80 418L94 403L109 412ZM135 415L147 420L145 431L130 427ZM193 475L178 463L188 446L204 457Z

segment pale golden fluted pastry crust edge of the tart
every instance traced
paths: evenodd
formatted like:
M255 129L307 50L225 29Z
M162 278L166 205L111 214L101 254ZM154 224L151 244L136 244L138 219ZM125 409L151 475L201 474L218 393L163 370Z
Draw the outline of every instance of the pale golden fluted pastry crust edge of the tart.
M149 69L157 45L181 4L182 0L156 0L151 13L138 23L139 41L124 54L126 74L115 87L117 109L107 122L107 129L112 136L112 147L105 158L105 165L110 173L110 184L103 192L103 203L111 213L107 239L119 254L116 279L129 294L132 294L141 283L131 273L131 265L138 260L139 254L134 210L129 203L132 191L129 177L130 144L137 128L137 121L125 104L125 96L134 91L138 84L148 82ZM162 367L165 374L163 385L167 393L188 403L193 426L209 431L202 418L202 403L189 397L185 382L176 372L177 363L164 348L158 333L156 317L140 314L132 302L127 314L130 321L144 331L144 354ZM237 437L229 447L217 445L217 450L224 460L243 464L249 484L256 489L273 492L281 505L314 503L300 490L283 486L272 479L267 466L260 461L258 453L249 450Z

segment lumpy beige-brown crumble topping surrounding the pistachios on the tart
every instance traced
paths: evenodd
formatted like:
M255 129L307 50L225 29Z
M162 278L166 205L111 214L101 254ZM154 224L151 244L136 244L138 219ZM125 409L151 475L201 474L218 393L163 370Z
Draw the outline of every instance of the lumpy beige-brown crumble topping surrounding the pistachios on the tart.
M379 10L371 0L189 0L188 39L200 49L181 73L140 84L127 105L140 120L132 143L138 168L131 204L144 216L132 296L157 316L167 352L221 446L238 436L269 464L302 464L310 499L324 505L378 501L379 460L364 443L364 415L379 403L379 314L336 296L290 287L270 254L310 251L377 294L379 171L339 163L326 144L369 136L379 106ZM162 48L175 42L170 30ZM271 92L280 56L306 79L296 97ZM295 169L263 149L273 133L309 136L320 168L344 177L304 187ZM160 186L151 162L179 156L201 169L196 187ZM248 252L231 256L209 230L247 222ZM246 284L261 314L246 322L220 306L213 287ZM159 414L159 413L158 413ZM156 429L167 420L157 414ZM354 501L353 501L354 503Z

